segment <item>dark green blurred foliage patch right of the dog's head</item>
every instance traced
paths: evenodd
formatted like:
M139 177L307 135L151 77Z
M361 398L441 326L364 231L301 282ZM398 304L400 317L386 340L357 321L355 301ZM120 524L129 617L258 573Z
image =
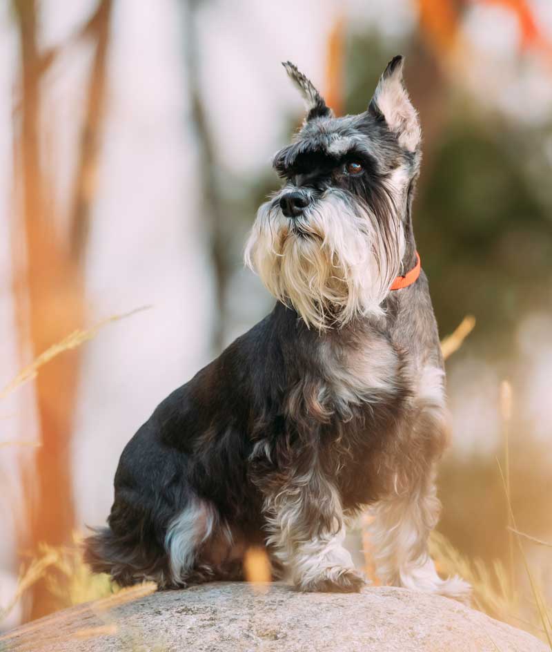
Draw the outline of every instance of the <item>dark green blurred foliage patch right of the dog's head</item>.
M509 352L515 326L544 307L542 283L552 280L546 207L501 135L491 139L473 122L451 124L415 215L440 327L451 329L468 311L477 315L475 345L489 357Z

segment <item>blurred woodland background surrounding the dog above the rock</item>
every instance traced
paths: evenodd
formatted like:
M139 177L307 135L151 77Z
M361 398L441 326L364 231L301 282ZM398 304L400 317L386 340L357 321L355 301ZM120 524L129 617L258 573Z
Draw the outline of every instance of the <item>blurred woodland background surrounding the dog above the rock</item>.
M0 629L75 601L59 568L56 591L21 578L103 524L128 439L273 304L242 249L302 119L280 61L359 113L398 52L441 334L476 320L447 360L439 529L479 606L542 635L513 604L535 602L524 557L552 584L549 0L0 3Z

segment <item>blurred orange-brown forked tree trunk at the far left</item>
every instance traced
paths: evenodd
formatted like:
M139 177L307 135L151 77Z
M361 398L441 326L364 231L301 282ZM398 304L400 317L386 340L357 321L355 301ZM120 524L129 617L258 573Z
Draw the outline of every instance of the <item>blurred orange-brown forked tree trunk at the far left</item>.
M43 62L37 50L37 2L13 0L21 51L21 97L17 108L15 153L19 205L14 211L12 237L22 242L24 260L14 262L14 301L19 326L20 349L30 348L33 357L81 327L85 317L83 259L93 184L97 166L97 145L101 126L101 105L105 95L108 25L112 0L100 0L88 23L97 44L90 73L88 103L82 129L77 171L72 191L68 235L58 233L59 220L52 207L53 193L45 160L45 139L40 133L41 72ZM86 36L90 32L84 32ZM43 135L42 135L43 136ZM21 279L19 278L21 271ZM21 328L23 327L23 328ZM23 331L23 332L22 332ZM27 337L30 342L27 342ZM30 345L30 346L28 346ZM80 354L64 352L45 365L34 385L41 445L34 465L22 471L25 517L19 524L20 548L34 552L39 544L70 543L75 527L72 495L71 436ZM32 590L30 617L45 615L55 608L46 583Z

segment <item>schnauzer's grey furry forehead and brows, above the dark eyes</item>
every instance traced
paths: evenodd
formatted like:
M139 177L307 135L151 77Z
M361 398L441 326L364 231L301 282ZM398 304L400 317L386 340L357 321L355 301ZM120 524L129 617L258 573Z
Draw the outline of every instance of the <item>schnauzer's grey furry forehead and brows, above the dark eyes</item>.
M324 117L309 120L295 135L293 142L278 151L274 157L277 169L293 166L297 157L321 153L341 157L349 151L381 157L381 131L366 115Z

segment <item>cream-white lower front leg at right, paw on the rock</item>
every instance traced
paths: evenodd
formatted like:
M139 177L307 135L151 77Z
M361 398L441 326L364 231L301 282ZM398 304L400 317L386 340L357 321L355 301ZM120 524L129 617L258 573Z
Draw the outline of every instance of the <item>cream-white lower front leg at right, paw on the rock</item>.
M471 592L469 584L456 576L439 577L428 554L428 537L439 511L433 483L426 491L397 495L378 504L370 526L376 573L384 584L462 600Z

